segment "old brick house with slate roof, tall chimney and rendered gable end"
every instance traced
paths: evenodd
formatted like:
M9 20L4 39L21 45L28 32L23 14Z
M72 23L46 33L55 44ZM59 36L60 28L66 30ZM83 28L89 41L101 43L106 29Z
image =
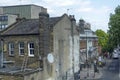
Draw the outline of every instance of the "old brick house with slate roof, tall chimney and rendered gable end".
M40 13L39 19L17 19L0 34L0 78L61 80L73 76L79 71L78 59L75 59L79 47L73 47L79 46L75 24L74 17L67 14L49 17L47 13ZM49 53L54 57L53 63L47 59Z

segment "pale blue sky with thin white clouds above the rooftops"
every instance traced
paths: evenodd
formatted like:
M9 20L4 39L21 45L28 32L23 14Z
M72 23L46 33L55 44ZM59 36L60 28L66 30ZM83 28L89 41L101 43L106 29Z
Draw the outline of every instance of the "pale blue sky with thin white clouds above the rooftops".
M76 22L84 19L91 29L107 32L110 13L120 5L120 0L0 0L0 6L35 4L47 8L51 17L64 13L74 15Z

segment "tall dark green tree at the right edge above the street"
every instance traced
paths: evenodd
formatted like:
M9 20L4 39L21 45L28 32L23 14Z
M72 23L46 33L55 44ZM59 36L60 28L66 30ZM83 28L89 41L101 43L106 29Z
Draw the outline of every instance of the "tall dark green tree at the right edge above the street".
M115 13L110 14L109 19L109 44L111 46L117 47L120 44L120 6L118 5L115 8Z

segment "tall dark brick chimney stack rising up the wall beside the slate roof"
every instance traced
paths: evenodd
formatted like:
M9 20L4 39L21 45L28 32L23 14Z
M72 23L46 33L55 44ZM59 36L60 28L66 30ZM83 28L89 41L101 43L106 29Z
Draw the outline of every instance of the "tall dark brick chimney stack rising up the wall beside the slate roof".
M46 56L49 53L49 14L39 14L40 53Z

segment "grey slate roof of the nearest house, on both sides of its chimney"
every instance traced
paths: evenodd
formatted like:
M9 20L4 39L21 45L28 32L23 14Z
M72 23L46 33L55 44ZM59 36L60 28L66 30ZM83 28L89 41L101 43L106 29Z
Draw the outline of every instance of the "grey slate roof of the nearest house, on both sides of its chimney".
M49 18L48 25L53 27L62 17ZM2 35L29 35L39 34L39 19L24 19L17 22L1 33Z

